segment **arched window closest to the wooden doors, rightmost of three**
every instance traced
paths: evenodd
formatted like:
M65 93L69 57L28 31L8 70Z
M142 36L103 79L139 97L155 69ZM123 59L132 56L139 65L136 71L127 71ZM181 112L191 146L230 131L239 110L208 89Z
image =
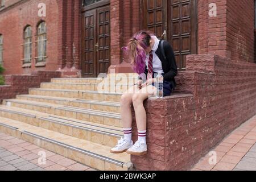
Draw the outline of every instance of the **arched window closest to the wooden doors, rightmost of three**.
M47 43L47 30L46 30L46 22L41 22L38 25L38 40L37 42L37 57L36 62L46 61L46 43Z

